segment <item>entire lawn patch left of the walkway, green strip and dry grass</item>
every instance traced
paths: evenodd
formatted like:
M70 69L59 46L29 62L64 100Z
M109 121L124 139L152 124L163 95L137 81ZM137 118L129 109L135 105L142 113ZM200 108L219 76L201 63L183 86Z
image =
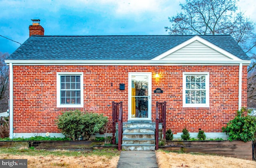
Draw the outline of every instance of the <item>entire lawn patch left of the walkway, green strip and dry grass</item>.
M0 148L1 159L28 159L28 168L115 168L118 150L70 151Z

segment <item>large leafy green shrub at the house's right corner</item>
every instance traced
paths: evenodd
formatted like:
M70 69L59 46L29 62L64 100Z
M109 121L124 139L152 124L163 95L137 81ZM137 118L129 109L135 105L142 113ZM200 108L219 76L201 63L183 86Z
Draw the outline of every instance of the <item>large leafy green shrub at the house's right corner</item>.
M242 107L237 111L235 118L229 121L226 127L222 127L222 132L229 136L228 140L248 142L256 139L256 117L251 116L251 113L251 109Z

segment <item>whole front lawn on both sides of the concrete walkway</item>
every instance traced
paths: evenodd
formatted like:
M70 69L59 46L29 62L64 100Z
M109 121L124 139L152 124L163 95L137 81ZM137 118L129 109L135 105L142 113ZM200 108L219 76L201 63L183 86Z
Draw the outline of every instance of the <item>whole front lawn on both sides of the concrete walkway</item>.
M1 159L28 159L28 168L116 168L120 151L37 150L0 148ZM159 168L254 168L256 162L213 155L156 151Z

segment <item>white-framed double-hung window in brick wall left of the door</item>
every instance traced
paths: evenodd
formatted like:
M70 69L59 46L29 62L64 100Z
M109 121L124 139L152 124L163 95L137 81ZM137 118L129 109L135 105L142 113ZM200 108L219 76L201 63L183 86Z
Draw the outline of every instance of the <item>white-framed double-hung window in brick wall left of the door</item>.
M83 74L57 74L57 107L83 107Z

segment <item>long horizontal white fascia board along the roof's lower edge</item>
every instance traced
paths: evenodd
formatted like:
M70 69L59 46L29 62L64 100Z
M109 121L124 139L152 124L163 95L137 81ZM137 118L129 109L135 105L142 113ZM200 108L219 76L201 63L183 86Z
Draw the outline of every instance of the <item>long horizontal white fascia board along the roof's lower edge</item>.
M230 61L168 61L168 60L6 60L15 65L177 65L177 64L250 64L250 60Z

